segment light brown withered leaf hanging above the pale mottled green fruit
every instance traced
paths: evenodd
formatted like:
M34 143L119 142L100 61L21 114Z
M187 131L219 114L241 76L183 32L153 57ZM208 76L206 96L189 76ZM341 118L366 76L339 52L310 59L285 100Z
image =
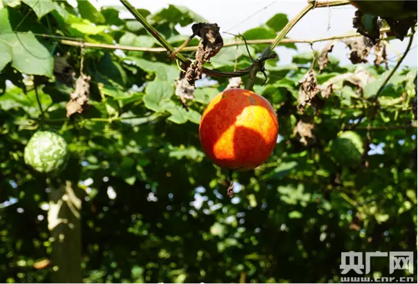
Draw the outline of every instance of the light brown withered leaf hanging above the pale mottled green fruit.
M80 75L75 81L75 91L71 93L70 101L66 105L67 117L74 113L82 113L88 105L88 96L90 95L90 76Z

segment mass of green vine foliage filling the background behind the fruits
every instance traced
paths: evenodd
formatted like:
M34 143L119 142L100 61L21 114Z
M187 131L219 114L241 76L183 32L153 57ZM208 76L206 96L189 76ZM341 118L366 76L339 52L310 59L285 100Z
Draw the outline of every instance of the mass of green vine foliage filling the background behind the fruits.
M86 194L86 284L339 283L341 252L416 250L417 131L408 127L416 69L397 72L376 113L368 99L385 69L332 59L317 73L321 86L359 70L372 82L360 88L340 79L330 97L318 95L318 112L306 107L301 115L299 80L312 54L296 55L289 65L267 62L269 82L261 86L260 75L254 90L276 109L280 139L265 164L234 174L230 199L227 172L211 164L198 140L200 115L227 86L225 78L206 78L209 86L196 89L186 111L174 95L180 70L166 53L84 48L91 106L66 118L73 92L66 82L72 72L79 75L80 50L39 34L158 47L139 23L120 19L120 7L99 11L88 1L77 3L0 0L0 283L50 283L51 267L33 267L51 254L50 189L23 161L24 146L41 127L34 86L45 112L42 127L61 133L71 151L63 178ZM140 12L172 44L186 38L178 26L205 20L173 5L154 15ZM243 35L272 38L287 21L277 14ZM207 67L231 71L249 64L244 46L225 47ZM305 119L314 126L310 139L294 132ZM330 142L354 124L365 141L362 162L339 164ZM387 275L388 259L373 262L372 272Z

